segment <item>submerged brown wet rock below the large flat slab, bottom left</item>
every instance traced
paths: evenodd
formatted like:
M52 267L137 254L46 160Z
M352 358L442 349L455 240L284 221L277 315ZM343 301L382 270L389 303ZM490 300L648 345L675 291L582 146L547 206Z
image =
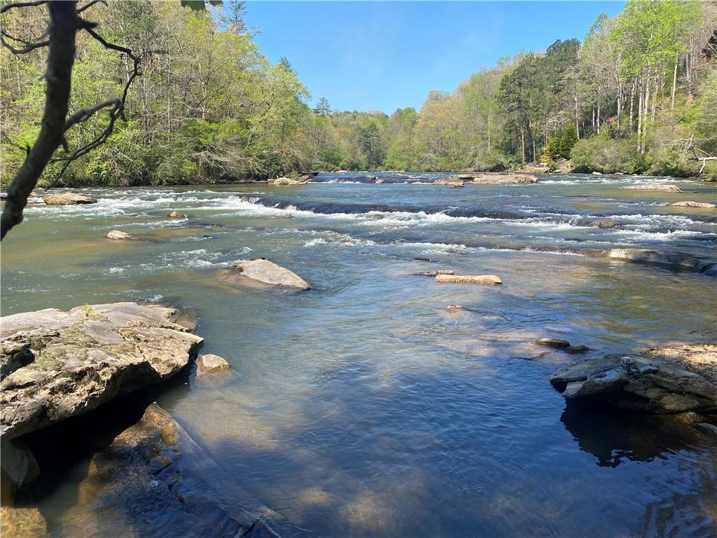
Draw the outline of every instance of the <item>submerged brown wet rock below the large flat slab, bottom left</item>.
M239 499L247 499L242 506ZM92 456L61 537L258 538L302 532L249 501L184 428L156 404Z

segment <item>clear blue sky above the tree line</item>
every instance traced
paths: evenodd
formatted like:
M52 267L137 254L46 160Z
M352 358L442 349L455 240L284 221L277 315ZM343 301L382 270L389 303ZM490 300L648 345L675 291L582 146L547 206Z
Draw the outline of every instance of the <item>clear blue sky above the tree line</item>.
M285 56L335 110L419 109L480 67L556 39L580 40L622 1L247 1L264 54Z

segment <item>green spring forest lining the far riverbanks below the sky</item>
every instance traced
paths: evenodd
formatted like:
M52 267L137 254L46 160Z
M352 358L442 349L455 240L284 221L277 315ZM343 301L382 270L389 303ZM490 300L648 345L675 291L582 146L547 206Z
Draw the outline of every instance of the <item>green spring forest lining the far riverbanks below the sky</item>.
M91 11L90 11L91 10ZM242 2L192 11L177 2L110 1L87 16L141 57L126 121L78 159L65 184L176 184L319 169L510 169L571 159L578 171L717 176L717 4L630 0L601 15L583 42L557 41L483 68L421 110L332 111L286 60L272 64L245 27ZM9 11L4 31L27 39L43 9ZM287 51L290 52L290 51ZM0 57L6 184L42 116L47 52ZM79 38L72 110L115 98L130 65ZM357 77L361 75L357 73ZM82 146L106 124L72 131ZM45 183L61 163L45 171Z

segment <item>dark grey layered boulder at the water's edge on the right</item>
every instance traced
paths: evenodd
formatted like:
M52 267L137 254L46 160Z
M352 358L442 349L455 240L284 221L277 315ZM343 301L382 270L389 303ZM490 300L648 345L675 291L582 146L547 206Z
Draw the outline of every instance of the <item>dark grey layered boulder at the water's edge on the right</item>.
M670 413L717 410L717 386L700 374L650 357L605 355L561 369L550 379L567 400Z

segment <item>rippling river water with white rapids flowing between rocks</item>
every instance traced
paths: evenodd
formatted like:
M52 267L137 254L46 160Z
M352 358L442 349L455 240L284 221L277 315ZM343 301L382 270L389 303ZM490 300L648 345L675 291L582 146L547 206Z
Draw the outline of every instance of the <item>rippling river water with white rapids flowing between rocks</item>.
M715 202L715 187L625 191L668 180L576 175L454 189L427 184L435 174L379 176L85 189L100 202L34 205L3 242L2 313L187 308L203 352L232 370L189 374L158 402L247 495L316 536L715 535L714 440L679 417L566 409L549 377L576 357L532 344L564 337L592 357L715 341L713 278L584 255L715 258L714 209L668 205ZM259 257L313 290L229 278L232 263ZM503 285L414 275L439 269ZM71 502L63 491L40 501L51 528Z

